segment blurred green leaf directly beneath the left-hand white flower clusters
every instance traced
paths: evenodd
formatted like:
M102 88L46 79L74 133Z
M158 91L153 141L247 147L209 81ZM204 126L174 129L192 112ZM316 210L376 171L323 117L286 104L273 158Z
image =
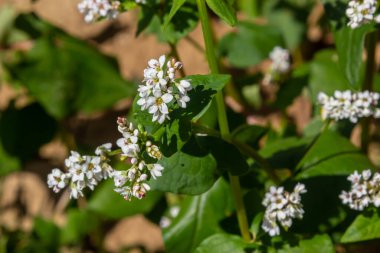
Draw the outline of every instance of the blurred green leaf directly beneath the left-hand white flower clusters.
M87 209L108 219L121 219L139 213L150 212L161 199L162 193L150 191L142 200L126 201L116 193L112 180L98 186L91 196Z

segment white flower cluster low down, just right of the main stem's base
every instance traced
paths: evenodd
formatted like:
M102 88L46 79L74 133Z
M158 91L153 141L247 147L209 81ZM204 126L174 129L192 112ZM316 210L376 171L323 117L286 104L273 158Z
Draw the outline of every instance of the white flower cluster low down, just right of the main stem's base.
M265 194L262 204L266 207L262 228L270 236L280 234L280 227L288 229L292 226L292 219L302 219L304 210L301 204L301 194L305 193L305 185L298 183L294 191L284 191L284 187L274 187Z

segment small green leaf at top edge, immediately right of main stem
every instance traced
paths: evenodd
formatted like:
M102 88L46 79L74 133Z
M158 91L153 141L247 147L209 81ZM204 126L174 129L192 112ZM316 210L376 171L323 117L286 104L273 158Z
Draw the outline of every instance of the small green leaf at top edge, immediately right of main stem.
M234 26L237 22L236 12L232 4L227 0L206 0L208 7L224 22Z

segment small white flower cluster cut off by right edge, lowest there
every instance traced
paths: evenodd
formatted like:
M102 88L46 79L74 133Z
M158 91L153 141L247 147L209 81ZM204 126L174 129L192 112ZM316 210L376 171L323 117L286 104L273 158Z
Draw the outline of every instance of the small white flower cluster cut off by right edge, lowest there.
M359 174L355 171L347 179L351 182L351 190L349 192L343 191L339 196L343 204L358 211L362 211L370 204L375 207L380 206L379 173L376 172L372 175L370 170L364 170Z

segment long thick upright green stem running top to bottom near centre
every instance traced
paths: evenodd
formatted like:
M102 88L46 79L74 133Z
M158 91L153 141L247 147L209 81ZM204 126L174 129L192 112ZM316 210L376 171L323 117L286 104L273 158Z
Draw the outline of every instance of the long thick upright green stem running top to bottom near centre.
M199 16L202 24L203 38L206 46L206 56L207 61L212 74L219 73L218 62L215 55L215 46L213 40L213 33L207 13L205 0L197 0ZM223 139L229 140L230 129L227 121L227 113L224 105L223 93L219 91L216 94L216 103L218 107L218 122L220 133ZM233 176L229 173L230 184L232 188L232 193L235 199L236 213L239 222L240 233L245 241L251 240L251 235L249 233L248 219L244 207L243 195L241 192L239 177Z

